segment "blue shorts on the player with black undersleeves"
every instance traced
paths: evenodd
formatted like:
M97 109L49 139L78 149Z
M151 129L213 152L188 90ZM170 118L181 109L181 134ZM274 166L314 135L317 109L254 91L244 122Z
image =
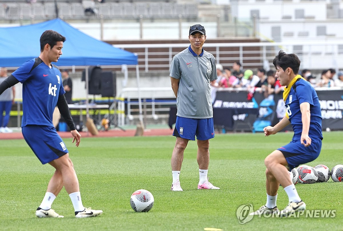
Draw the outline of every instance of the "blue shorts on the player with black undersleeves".
M53 126L26 125L22 127L22 133L26 143L43 165L68 153L66 145Z

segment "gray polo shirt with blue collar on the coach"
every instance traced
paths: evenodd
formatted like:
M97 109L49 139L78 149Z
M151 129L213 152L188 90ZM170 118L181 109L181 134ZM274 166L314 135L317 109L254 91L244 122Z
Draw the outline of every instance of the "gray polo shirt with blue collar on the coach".
M213 54L203 49L197 55L189 46L173 57L170 77L180 79L177 116L195 119L213 117L210 82L217 79Z

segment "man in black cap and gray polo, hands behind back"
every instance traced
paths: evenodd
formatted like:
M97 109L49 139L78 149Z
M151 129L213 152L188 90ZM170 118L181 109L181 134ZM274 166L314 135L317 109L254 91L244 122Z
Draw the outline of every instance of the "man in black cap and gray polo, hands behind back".
M202 46L205 28L199 24L189 28L190 46L173 57L170 64L171 88L176 96L176 144L171 156L173 183L171 191L182 191L180 170L189 140L197 137L199 164L198 189L220 189L208 181L210 139L214 137L210 84L217 79L213 54Z

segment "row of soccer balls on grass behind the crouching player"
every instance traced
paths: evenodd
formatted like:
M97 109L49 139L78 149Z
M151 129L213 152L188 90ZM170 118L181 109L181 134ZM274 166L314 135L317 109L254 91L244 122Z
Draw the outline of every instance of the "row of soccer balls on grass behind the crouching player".
M343 165L336 165L331 171L326 165L317 165L315 167L300 165L292 169L289 176L294 184L297 182L302 184L327 182L330 177L334 182L343 182Z

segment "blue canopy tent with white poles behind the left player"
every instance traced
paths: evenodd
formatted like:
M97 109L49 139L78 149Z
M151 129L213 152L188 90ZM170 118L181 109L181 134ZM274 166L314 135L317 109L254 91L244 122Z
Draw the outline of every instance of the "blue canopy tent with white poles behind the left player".
M137 84L139 89L138 58L135 54L115 48L110 44L92 38L72 27L61 19L17 26L0 27L0 66L16 67L29 59L39 56L39 38L46 30L53 30L64 37L62 56L57 66L86 66L86 102L88 104L88 66L95 65L136 65ZM140 120L142 107L140 91ZM87 108L87 117L88 117Z

